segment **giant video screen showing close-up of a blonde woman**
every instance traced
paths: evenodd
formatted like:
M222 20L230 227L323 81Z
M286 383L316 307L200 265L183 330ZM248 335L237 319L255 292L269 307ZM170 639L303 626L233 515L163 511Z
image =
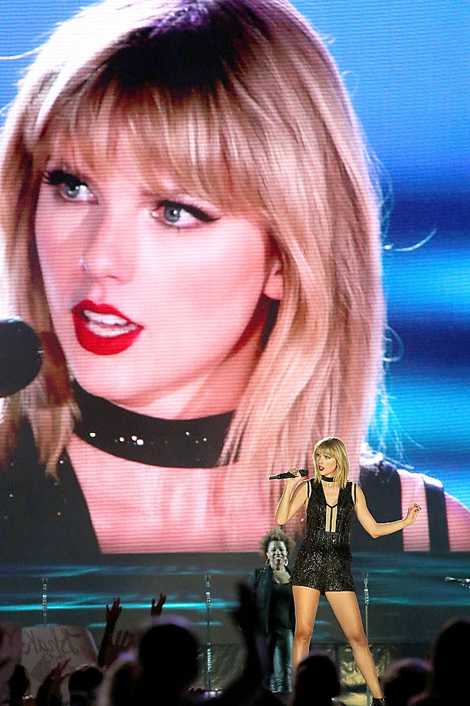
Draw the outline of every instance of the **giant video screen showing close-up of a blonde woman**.
M412 611L417 562L429 604L470 551L455 18L407 1L29 5L8 0L0 25L6 619L28 624L47 573L59 622L162 590L197 624L208 576L222 611L264 565L283 519L270 477L307 469L314 489L330 466L364 492L357 585L376 571L386 603L393 566ZM326 437L346 461L312 457ZM278 522L292 563L302 492ZM364 513L414 503L416 522L371 537Z

